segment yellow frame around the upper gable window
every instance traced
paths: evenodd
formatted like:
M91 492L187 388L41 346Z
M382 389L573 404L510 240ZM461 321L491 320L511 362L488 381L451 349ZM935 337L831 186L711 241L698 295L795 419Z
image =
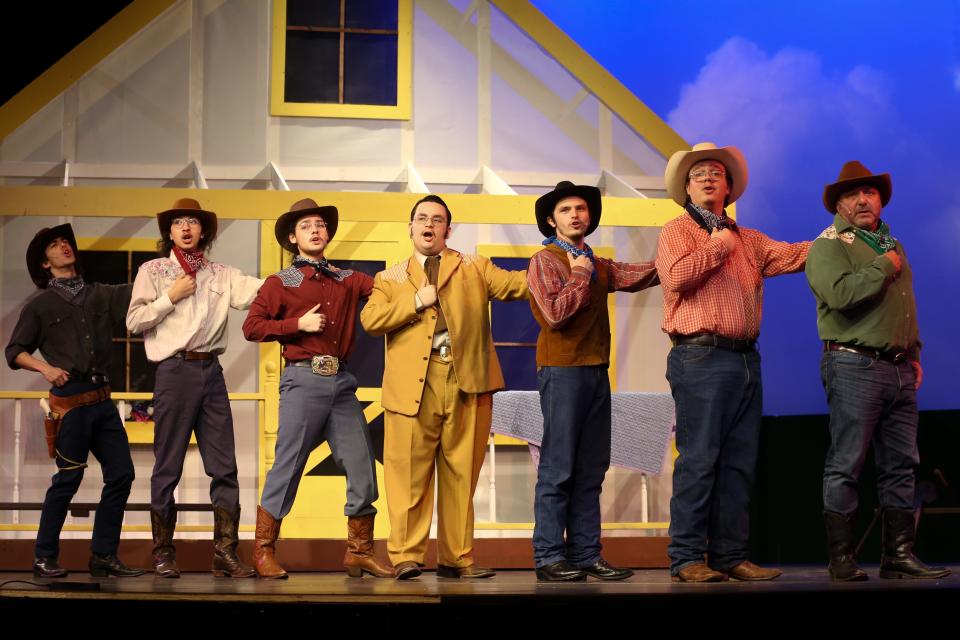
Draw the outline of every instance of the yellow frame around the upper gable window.
M270 115L302 118L409 120L413 101L413 0L397 0L397 104L317 104L287 102L287 0L274 0L270 73Z

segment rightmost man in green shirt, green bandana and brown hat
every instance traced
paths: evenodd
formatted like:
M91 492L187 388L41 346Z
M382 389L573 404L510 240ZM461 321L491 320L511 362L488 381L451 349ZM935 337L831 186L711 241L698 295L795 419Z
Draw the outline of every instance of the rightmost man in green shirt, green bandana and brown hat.
M823 509L834 581L866 580L854 558L857 482L870 443L883 510L881 578L942 578L913 554L917 388L923 380L913 279L903 247L880 220L893 186L856 160L823 190L835 214L810 247L807 280L824 341L830 403Z

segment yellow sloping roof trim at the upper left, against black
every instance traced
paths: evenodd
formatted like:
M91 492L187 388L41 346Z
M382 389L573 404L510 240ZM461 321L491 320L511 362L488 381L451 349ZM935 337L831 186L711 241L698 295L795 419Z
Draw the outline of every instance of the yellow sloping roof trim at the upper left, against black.
M13 133L177 0L134 0L0 106L0 140Z

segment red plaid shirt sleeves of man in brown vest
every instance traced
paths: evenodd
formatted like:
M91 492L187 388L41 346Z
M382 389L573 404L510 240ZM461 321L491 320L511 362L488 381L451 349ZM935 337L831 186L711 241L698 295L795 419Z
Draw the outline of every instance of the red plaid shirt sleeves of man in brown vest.
M599 256L594 259L607 265L608 291L641 291L658 282L652 262L614 262ZM583 267L571 269L565 256L561 258L547 249L530 258L527 285L547 324L554 329L590 302L590 272Z

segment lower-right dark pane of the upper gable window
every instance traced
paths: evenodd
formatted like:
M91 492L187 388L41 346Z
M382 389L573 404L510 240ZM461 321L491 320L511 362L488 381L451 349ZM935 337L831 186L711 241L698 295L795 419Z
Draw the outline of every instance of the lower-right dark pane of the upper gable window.
M397 37L346 35L343 99L348 104L397 104Z

